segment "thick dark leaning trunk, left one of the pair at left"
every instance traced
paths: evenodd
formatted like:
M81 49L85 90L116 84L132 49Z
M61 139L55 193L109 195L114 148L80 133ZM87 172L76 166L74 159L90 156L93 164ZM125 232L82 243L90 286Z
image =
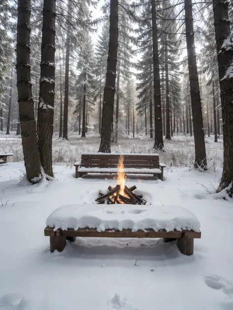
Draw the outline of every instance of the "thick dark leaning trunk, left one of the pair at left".
M17 87L22 145L27 179L38 183L43 176L37 145L34 106L30 80L30 0L18 0Z

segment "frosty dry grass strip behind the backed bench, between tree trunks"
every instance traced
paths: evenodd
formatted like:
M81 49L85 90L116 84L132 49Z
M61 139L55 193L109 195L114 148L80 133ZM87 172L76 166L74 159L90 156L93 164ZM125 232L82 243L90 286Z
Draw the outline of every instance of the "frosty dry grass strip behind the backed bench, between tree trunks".
M15 138L15 137L14 137ZM75 161L81 159L82 153L98 152L100 138L97 135L87 135L81 139L77 135L70 135L69 140L53 139L53 162L54 164L66 164L72 166ZM167 166L192 166L195 160L195 148L193 137L177 136L172 141L164 141L165 152L158 151L160 161ZM154 153L153 140L145 138L120 139L117 144L112 144L114 153ZM24 160L21 139L8 137L0 141L0 152L12 152L9 161ZM208 166L213 170L222 166L223 142L213 142L213 138L206 139L206 156Z

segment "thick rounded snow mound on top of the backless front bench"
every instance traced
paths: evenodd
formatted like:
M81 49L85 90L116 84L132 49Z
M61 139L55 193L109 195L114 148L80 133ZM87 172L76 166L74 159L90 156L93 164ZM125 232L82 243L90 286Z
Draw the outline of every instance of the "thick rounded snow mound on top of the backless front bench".
M177 206L135 205L68 205L53 211L46 225L54 230L94 228L98 232L106 229L122 231L130 229L193 230L199 232L200 223L189 210Z

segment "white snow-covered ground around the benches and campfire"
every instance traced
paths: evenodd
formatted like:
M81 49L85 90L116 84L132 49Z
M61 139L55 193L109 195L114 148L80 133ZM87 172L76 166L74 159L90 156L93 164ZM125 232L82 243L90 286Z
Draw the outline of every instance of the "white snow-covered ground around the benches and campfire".
M92 147L88 139L79 141L87 146L81 152L96 151L97 143ZM169 145L175 149L181 143ZM146 141L145 149L146 145L152 142ZM220 143L206 146L221 164ZM210 146L219 151L210 151ZM79 147L75 144L76 151ZM135 184L148 204L181 206L196 215L202 238L195 239L191 257L181 254L175 242L162 239L78 238L61 253L50 253L49 237L44 236L50 213L63 205L95 204L98 191L116 181L110 175L75 179L74 167L55 165L55 181L27 186L25 181L19 183L23 172L23 162L0 166L0 306L16 310L233 309L233 200L214 193L222 173L217 165L205 173L172 166L163 182L129 176L126 183Z

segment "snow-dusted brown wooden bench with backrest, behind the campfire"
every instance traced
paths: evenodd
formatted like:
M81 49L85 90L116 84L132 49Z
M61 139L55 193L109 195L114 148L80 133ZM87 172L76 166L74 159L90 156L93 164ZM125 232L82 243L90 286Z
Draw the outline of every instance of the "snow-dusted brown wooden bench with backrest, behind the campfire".
M124 156L126 174L152 174L163 181L165 164L159 162L158 154L84 153L75 166L76 178L87 173L117 173L120 155Z

